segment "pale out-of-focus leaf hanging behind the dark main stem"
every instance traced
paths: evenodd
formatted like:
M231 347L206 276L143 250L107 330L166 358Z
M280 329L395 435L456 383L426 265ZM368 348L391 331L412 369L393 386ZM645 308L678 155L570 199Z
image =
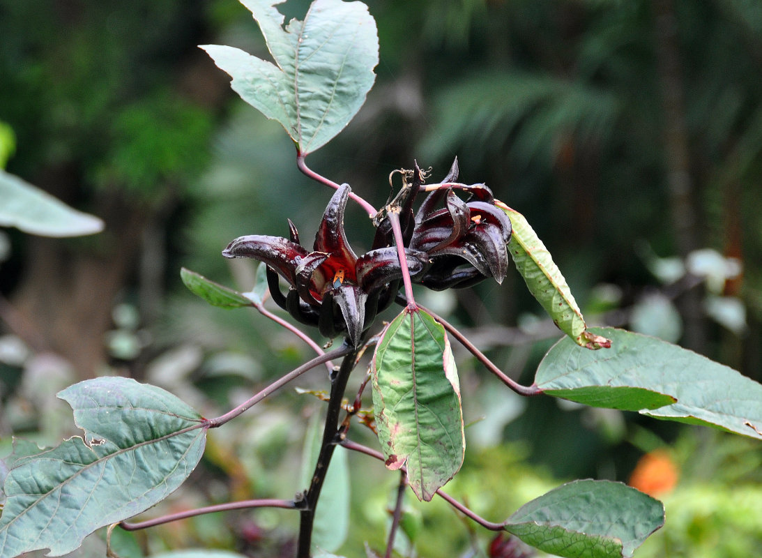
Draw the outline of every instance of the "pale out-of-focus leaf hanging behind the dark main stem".
M302 488L312 482L315 463L318 462L322 443L323 423L315 415L307 425L302 454ZM347 450L336 447L325 481L318 507L315 509L315 521L312 524L313 550L333 552L344 544L349 534L349 465Z

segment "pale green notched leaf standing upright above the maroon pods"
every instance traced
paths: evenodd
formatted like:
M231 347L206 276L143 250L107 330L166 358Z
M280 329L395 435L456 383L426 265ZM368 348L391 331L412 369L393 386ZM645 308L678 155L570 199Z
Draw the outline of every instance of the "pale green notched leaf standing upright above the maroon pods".
M275 64L232 46L206 45L232 77L233 90L267 118L280 122L302 155L328 143L365 102L376 75L376 21L361 2L315 0L304 21L285 29L275 5L241 0L251 11Z

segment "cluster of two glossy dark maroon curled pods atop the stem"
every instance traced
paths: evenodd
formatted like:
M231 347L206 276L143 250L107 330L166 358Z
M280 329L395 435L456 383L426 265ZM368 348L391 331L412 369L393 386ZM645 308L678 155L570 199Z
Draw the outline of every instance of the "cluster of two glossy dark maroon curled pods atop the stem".
M486 277L501 283L508 266L511 220L495 207L491 191L484 184L453 184L457 162L450 175L433 187L424 186L418 165L401 172L402 190L373 218L377 233L370 252L358 257L347 242L344 209L351 188L341 184L325 208L312 252L299 243L299 232L289 220L290 239L240 236L223 255L262 261L278 306L299 322L318 326L325 337L346 333L354 346L360 345L376 314L395 300L403 267L410 281L435 290L471 286ZM412 184L406 180L408 175L413 177ZM453 188L475 193L478 199L466 203ZM416 194L427 189L433 191L414 218L411 207ZM438 207L443 200L446 207ZM402 257L392 234L392 216L401 221ZM286 295L278 287L277 274L288 281Z

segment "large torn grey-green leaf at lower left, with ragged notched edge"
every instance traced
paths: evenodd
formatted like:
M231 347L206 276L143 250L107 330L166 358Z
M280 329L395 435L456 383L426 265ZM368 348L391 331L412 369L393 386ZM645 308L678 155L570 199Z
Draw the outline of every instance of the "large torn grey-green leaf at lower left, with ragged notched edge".
M204 419L171 393L120 377L59 393L84 438L21 457L5 479L0 558L71 552L104 525L161 502L203 454Z

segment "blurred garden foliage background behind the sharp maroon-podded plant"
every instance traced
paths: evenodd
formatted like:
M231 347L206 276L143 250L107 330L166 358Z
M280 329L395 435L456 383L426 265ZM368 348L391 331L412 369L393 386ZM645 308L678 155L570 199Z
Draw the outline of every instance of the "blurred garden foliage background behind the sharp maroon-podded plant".
M308 4L279 8L303 18ZM437 179L457 156L461 181L485 182L527 216L588 325L656 335L762 379L762 4L367 4L379 27L376 85L309 157L312 168L379 207L392 170L415 159ZM230 90L197 48L205 43L268 58L235 0L0 0L6 169L106 223L77 239L0 230L0 455L12 435L55 444L75 434L55 394L79 380L135 377L209 416L312 356L262 316L208 306L180 281L186 266L251 289L251 262L220 251L243 234L286 235L287 217L309 244L331 195L296 170L280 125ZM358 207L347 233L357 252L370 246ZM420 296L523 383L560 337L517 273L501 286ZM482 515L506 518L568 479L632 479L668 510L637 556L758 553L758 444L523 400L465 352L456 358L468 450L447 489ZM327 385L325 370L299 380ZM323 405L287 389L210 432L194 476L150 513L290 498L302 488L306 419ZM373 445L361 426L355 435ZM364 555L364 541L383 549L391 521L397 476L367 459L348 456L352 514L337 547L347 556ZM491 534L443 502L406 505L400 556L488 556ZM282 556L295 524L259 510L115 536L123 556L181 547Z

